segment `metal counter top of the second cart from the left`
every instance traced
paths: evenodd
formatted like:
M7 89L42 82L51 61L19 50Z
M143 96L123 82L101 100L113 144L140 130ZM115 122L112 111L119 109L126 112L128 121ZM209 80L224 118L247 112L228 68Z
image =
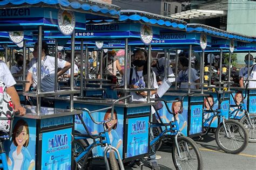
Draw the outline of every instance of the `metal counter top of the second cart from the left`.
M54 101L70 101L70 97L48 97L49 100ZM115 99L104 99L104 98L93 98L93 97L74 97L74 103L82 103L82 104L94 104L94 105L112 105L113 102L116 101ZM117 102L115 105L118 107L124 107L124 108L133 108L133 107L143 107L148 105L153 105L154 102L127 102L126 104L123 101Z

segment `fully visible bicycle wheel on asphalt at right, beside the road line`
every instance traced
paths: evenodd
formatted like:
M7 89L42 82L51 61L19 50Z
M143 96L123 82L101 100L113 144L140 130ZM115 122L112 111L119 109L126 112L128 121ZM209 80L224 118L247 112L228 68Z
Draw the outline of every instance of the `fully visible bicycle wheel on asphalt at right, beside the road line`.
M245 127L234 120L225 121L227 134L223 123L219 124L215 132L217 145L226 153L237 154L246 148L248 144L248 133Z

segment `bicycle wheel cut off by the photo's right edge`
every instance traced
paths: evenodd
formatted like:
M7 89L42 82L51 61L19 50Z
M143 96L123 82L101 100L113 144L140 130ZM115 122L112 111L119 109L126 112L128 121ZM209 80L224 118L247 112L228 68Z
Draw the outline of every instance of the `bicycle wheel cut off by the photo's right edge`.
M245 126L248 131L249 142L256 143L256 114L250 114L252 125L246 115L244 115L239 122Z

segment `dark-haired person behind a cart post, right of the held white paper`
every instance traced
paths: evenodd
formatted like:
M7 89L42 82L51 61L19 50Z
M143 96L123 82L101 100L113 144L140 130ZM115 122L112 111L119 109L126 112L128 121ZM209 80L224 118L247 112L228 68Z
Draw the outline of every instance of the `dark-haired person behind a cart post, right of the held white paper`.
M180 88L181 89L188 89L187 84L182 84L183 82L188 82L188 59L184 56L181 56L178 61L178 68L180 69L180 72L178 74L177 82L181 83ZM190 82L191 83L199 83L199 77L197 75L197 70L194 68L190 69ZM195 86L193 84L190 85L191 89L198 89L199 86Z

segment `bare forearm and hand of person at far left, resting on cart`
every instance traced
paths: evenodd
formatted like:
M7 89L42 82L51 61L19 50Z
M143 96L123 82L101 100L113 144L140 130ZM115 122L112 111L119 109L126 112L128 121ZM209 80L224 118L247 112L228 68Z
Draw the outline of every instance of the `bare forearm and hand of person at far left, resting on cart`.
M21 102L19 101L18 93L14 86L6 88L6 92L11 96L11 101L14 103L15 111L19 111L19 115L25 115L26 110L21 106Z

